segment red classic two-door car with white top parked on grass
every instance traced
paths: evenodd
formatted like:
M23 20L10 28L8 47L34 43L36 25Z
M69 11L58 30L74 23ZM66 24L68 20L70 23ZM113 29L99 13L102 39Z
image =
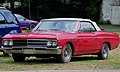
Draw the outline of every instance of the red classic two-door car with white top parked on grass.
M119 36L101 30L89 19L52 18L41 20L32 32L5 35L2 42L15 62L35 56L54 57L64 63L86 54L105 60L109 50L117 48Z

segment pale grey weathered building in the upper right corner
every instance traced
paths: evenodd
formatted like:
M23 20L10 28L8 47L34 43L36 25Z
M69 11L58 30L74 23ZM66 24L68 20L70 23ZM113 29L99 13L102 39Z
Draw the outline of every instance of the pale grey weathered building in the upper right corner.
M120 0L102 0L101 19L120 25Z

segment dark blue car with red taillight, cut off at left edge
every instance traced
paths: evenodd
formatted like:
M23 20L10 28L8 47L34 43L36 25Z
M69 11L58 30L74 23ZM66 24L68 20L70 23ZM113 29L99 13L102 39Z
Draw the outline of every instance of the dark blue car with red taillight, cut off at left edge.
M7 9L0 8L0 48L4 35L21 32L22 28L14 14Z

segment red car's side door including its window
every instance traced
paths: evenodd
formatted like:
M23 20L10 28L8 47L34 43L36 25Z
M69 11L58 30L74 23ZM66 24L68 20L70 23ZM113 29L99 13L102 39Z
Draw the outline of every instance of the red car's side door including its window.
M94 53L97 47L96 29L89 21L81 21L78 31L79 53Z

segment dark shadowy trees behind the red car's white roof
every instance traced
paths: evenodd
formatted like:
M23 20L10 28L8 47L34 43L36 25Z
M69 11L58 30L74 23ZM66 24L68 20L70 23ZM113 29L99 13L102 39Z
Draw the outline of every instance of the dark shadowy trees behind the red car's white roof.
M15 0L8 0L13 2ZM29 0L21 2L21 13L27 15ZM32 18L76 17L99 20L102 0L30 0ZM18 9L20 10L20 9ZM16 11L17 12L17 11ZM19 12L19 11L18 11Z

